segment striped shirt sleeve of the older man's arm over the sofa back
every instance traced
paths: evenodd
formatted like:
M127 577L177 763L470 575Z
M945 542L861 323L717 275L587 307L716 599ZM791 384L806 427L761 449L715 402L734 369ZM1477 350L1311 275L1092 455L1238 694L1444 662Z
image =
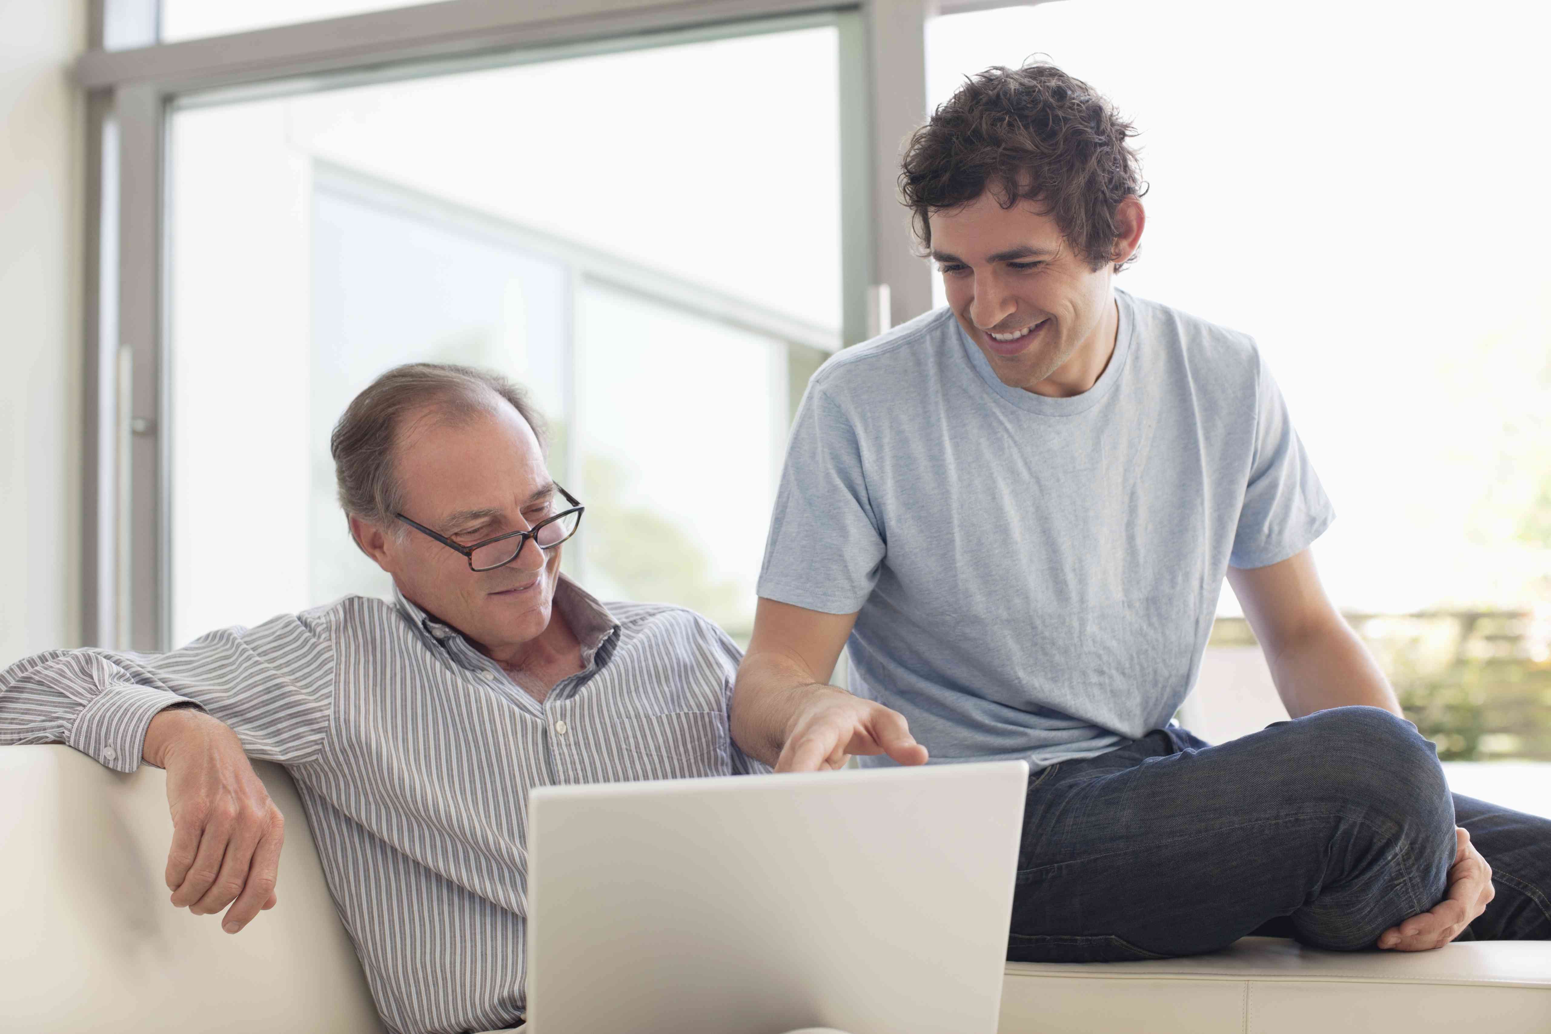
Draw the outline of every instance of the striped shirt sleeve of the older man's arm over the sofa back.
M282 615L225 628L164 654L56 650L0 671L0 744L64 743L133 772L150 719L195 705L248 757L301 763L329 730L335 651L326 619Z

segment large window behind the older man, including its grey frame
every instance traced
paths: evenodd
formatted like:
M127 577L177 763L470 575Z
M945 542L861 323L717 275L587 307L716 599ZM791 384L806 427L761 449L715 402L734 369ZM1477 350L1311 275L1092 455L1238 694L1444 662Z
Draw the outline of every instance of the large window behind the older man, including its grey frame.
M423 358L535 394L574 575L748 634L808 377L931 304L927 0L90 6L85 642L385 592L326 443Z

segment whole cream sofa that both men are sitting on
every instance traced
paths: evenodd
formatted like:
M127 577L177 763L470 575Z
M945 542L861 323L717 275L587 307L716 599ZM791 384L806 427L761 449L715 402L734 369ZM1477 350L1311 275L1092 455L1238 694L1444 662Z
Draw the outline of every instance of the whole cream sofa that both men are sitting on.
M119 775L68 747L0 747L0 1029L380 1029L296 791L282 769L257 767L288 820L281 904L228 936L216 918L168 904L160 770ZM1249 938L1193 960L1013 963L1000 1029L1548 1034L1551 943L1334 955Z

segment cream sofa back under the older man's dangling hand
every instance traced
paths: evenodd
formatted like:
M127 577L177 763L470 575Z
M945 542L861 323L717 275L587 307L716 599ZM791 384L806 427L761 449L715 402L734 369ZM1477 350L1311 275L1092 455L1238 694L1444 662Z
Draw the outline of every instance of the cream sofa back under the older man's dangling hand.
M242 933L174 908L166 774L70 747L0 747L5 1029L377 1032L366 980L290 777L254 766L285 815L279 904Z

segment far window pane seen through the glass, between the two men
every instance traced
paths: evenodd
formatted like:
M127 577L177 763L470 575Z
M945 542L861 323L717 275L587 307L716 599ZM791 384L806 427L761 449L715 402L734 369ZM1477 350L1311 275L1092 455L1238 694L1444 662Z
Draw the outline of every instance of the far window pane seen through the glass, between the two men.
M746 639L786 445L786 347L606 285L585 288L579 338L589 583Z

